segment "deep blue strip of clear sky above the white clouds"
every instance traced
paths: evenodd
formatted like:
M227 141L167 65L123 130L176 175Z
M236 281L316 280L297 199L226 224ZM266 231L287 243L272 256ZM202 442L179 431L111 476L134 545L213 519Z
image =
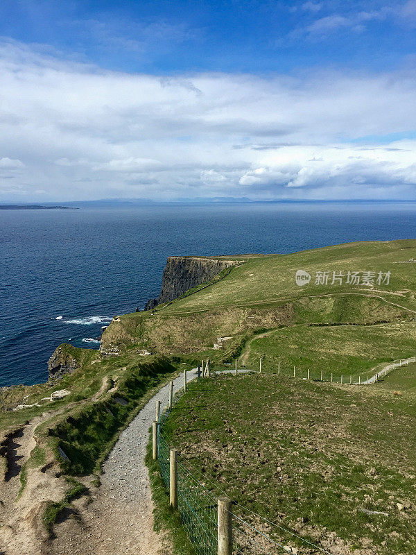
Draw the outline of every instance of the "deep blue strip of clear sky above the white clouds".
M3 0L0 34L130 72L385 70L413 63L416 4Z

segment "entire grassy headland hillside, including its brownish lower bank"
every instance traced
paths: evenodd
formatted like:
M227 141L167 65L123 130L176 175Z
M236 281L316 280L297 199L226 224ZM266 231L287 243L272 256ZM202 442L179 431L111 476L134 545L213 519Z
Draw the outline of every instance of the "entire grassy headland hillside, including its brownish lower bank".
M244 257L241 257L244 258ZM223 279L157 307L152 313L126 314L103 334L104 345L150 348L161 355L203 351L227 360L245 334L259 327L297 324L367 325L412 320L416 316L416 241L368 241L289 255L251 256ZM305 287L295 283L298 269L311 273ZM315 285L317 271L390 271L390 283L373 288ZM220 336L231 336L225 352L212 351Z

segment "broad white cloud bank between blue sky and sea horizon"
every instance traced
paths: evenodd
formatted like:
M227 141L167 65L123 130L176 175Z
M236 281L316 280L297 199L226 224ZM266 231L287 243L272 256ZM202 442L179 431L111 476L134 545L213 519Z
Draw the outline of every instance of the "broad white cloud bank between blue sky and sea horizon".
M411 71L161 78L3 40L0 83L0 200L416 198Z

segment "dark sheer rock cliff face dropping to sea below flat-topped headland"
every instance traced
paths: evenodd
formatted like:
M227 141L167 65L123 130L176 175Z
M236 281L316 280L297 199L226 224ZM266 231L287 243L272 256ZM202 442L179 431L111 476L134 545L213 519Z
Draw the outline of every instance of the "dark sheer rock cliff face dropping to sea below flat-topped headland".
M146 310L162 302L168 302L197 285L209 282L220 271L236 266L241 260L223 260L203 257L170 256L162 278L162 291L157 299L150 299Z

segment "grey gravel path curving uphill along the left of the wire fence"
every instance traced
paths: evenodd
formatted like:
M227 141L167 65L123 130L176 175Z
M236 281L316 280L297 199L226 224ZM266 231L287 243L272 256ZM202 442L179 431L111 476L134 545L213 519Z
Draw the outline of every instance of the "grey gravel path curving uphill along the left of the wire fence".
M241 373L250 370L239 370ZM233 373L234 370L225 370ZM188 372L188 382L198 376ZM173 382L176 393L183 376ZM171 553L164 538L153 530L153 502L148 470L144 463L149 428L155 420L156 402L168 404L169 386L164 386L141 409L121 433L103 466L101 486L92 496L74 502L80 518L67 518L55 527L50 555L156 555Z

